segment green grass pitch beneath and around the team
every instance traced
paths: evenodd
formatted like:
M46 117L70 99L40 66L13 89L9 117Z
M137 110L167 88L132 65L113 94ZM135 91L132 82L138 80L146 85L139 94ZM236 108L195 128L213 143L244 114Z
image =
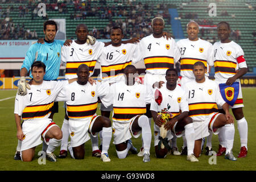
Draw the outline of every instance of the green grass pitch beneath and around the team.
M46 161L46 164L38 164L38 152L42 149L42 146L36 147L35 158L32 162L21 162L13 159L14 152L16 149L17 139L16 139L16 127L14 121L14 100L11 98L9 100L0 101L0 116L1 116L1 127L0 127L0 170L9 171L9 170L24 170L24 171L44 171L44 170L68 170L68 171L81 171L81 170L90 170L90 171L186 171L186 170L196 170L196 171L233 171L233 170L246 170L246 171L255 171L256 169L256 119L255 119L255 103L256 97L255 92L256 88L243 88L243 101L245 107L243 109L245 117L248 122L249 132L248 132L248 147L249 153L246 158L237 159L236 162L232 162L224 159L224 156L217 157L217 164L209 164L210 156L201 155L199 157L198 163L191 163L186 160L186 156L174 156L168 155L165 159L156 159L155 151L153 147L153 136L151 142L151 161L148 163L143 163L142 158L139 158L137 155L129 155L126 159L118 159L114 144L110 144L109 156L111 159L110 163L102 163L100 158L93 158L91 156L92 147L90 140L85 143L85 159L84 160L75 160L71 159L70 155L66 159L57 159L56 163ZM7 97L14 97L16 90L0 90L0 100ZM97 111L98 112L98 111ZM59 113L55 114L54 121L61 127L63 122L64 109L63 103L59 104ZM240 150L240 137L236 127L236 134L234 139L233 153L234 155L238 154ZM153 130L152 130L153 131ZM141 138L132 139L134 146L138 149L141 147ZM182 145L182 138L177 139L177 145L180 148ZM213 150L218 148L218 138L213 136L212 139ZM55 154L59 154L60 148L57 148Z

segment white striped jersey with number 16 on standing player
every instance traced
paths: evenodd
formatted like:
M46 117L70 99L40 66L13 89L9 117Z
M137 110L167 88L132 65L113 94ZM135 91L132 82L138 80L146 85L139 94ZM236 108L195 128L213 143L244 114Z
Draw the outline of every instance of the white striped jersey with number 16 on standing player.
M103 48L98 59L101 64L101 79L109 83L120 81L123 78L123 69L133 60L137 44L121 44L115 47L112 45Z

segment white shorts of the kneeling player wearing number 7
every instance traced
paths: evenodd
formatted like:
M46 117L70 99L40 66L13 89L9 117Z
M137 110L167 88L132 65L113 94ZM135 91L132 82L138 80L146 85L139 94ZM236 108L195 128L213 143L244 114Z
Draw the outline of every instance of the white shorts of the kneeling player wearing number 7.
M24 121L22 123L24 137L20 151L38 146L42 143L41 138L43 138L48 144L49 140L46 140L44 137L46 136L48 130L53 126L57 125L55 122L52 122L52 119Z

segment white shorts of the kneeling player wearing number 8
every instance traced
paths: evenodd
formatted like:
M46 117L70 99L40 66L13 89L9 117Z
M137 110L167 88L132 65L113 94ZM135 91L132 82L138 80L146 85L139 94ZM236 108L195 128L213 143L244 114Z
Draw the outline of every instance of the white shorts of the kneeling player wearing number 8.
M85 118L84 120L69 118L69 135L72 147L81 146L81 144L90 139L89 133L92 134L92 126L97 117L99 115L93 115L93 117ZM92 135L93 137L97 137L96 134Z

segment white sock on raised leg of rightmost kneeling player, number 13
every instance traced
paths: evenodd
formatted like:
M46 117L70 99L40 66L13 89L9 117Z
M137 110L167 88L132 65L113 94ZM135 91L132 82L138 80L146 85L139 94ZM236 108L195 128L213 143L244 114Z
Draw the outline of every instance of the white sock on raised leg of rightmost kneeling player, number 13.
M228 154L228 152L231 152L233 148L235 129L234 124L227 124L223 127L225 127L224 136L226 140L226 154Z

